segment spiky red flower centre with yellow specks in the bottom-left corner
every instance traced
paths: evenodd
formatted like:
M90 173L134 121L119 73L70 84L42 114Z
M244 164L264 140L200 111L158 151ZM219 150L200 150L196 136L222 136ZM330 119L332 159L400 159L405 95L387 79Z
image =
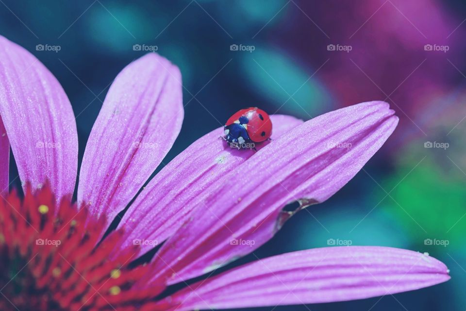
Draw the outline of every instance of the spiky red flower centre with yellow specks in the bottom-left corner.
M57 206L49 186L25 192L0 199L0 310L142 310L164 290L133 286L149 266L130 268L138 246L119 250L120 230L99 243L104 218Z

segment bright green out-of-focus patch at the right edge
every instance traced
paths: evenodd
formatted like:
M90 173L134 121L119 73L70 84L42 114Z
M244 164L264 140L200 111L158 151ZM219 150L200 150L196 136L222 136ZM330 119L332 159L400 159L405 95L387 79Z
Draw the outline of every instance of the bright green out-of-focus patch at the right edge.
M387 199L385 210L405 227L414 227L411 238L415 242L448 240L449 249L464 250L466 176L448 174L428 156L416 168L413 164L401 163L399 172L384 181L387 189L399 183Z

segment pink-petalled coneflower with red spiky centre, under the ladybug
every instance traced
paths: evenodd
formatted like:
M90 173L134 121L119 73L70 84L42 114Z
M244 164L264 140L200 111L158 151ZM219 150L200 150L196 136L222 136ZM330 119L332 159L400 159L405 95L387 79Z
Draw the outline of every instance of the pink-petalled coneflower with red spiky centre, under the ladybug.
M188 285L264 244L298 210L341 189L394 131L368 102L302 122L271 115L272 140L234 150L222 127L137 195L183 121L179 70L151 53L110 87L78 168L67 96L31 53L0 37L1 310L196 310L394 294L449 279L427 254L327 247L255 262ZM8 190L9 150L25 195ZM136 196L137 195L137 196ZM111 222L130 202L116 230ZM284 211L298 201L295 211ZM164 244L150 262L136 259ZM136 260L136 261L135 261ZM176 283L185 288L168 294Z

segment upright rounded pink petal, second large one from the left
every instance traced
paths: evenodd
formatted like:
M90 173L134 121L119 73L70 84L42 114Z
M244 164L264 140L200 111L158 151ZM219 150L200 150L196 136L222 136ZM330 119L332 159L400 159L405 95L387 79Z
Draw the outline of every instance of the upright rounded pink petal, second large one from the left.
M165 157L182 122L179 69L156 53L128 65L110 86L87 141L78 201L111 222Z

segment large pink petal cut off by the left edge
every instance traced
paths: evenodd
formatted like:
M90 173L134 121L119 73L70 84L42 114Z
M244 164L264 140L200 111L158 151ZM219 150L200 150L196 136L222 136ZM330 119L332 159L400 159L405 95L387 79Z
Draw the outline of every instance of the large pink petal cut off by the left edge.
M21 182L50 180L57 197L72 194L78 133L71 104L57 79L17 44L0 36L0 115Z

